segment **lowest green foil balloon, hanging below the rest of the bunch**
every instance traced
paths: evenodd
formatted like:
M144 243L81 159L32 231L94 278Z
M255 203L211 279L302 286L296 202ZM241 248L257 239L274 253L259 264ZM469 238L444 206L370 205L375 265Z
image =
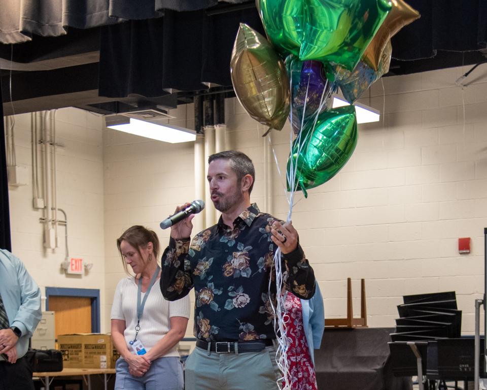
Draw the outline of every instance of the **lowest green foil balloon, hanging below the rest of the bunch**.
M303 191L317 187L335 176L343 168L357 145L357 117L354 106L330 109L303 126L301 138L296 138L288 159L288 178L293 180L292 167L296 171L296 183L288 181L291 188Z

